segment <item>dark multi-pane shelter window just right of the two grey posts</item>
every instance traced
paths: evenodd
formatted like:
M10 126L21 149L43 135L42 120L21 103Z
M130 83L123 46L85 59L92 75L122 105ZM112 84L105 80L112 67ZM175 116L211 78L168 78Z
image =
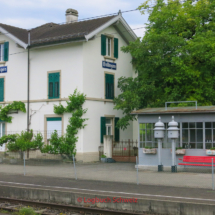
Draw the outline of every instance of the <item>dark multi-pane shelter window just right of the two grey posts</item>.
M182 123L182 146L189 149L203 149L202 122Z

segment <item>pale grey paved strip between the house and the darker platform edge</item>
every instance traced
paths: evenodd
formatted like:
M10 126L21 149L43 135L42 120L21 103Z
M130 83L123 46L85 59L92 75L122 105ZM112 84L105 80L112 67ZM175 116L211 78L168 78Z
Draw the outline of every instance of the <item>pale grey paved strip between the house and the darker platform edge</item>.
M82 180L137 183L137 172L133 163L94 163L77 164L77 177ZM187 188L212 189L212 174L210 169L194 169L189 172L171 173L170 167L164 172L139 170L138 181L142 185L162 185ZM22 175L22 165L0 164L0 178L4 175ZM75 178L73 164L58 164L48 166L26 166L27 176ZM33 178L33 177L32 177ZM214 177L215 178L215 177Z

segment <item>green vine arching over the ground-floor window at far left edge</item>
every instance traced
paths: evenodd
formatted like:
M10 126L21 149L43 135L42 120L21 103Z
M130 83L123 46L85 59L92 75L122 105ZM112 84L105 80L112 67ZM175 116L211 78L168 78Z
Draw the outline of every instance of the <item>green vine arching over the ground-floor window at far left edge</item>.
M25 104L23 102L14 101L5 107L0 106L0 120L5 122L12 122L12 116L7 116L11 110L20 110L26 113Z

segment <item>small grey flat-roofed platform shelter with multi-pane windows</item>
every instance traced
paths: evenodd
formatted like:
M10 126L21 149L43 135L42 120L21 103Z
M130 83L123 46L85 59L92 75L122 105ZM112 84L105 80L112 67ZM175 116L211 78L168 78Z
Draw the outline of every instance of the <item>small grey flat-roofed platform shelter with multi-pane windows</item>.
M171 139L168 138L168 123L174 116L178 122L179 138L176 147L185 149L185 155L207 156L206 150L215 147L215 106L145 108L132 112L138 116L139 165L158 165L158 155L145 154L143 148L157 148L154 138L154 125L161 117L165 125L165 137L162 140L162 162L171 166ZM183 155L177 155L182 158Z

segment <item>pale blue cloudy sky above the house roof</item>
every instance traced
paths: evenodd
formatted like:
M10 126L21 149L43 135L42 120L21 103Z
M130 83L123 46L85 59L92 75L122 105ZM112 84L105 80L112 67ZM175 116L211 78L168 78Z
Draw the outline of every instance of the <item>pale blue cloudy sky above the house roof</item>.
M30 29L39 25L65 22L65 11L73 8L79 19L136 9L144 0L0 0L0 23ZM140 11L122 14L132 29L144 27L147 15ZM143 37L144 28L134 30Z

